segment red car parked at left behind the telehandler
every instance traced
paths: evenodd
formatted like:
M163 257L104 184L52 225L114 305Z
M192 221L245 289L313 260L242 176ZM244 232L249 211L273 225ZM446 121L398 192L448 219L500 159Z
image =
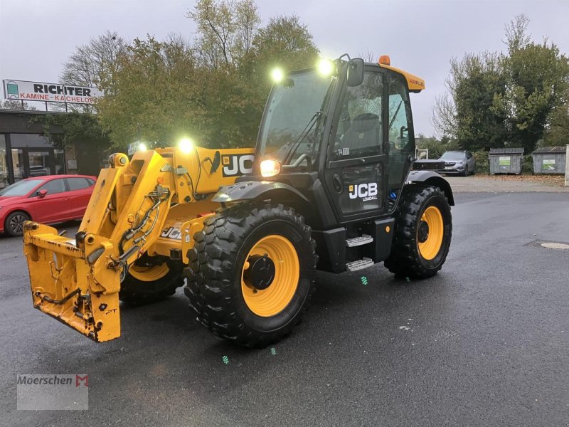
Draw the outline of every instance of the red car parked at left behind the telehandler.
M23 221L57 223L83 218L97 178L50 175L23 179L0 190L0 232L23 234Z

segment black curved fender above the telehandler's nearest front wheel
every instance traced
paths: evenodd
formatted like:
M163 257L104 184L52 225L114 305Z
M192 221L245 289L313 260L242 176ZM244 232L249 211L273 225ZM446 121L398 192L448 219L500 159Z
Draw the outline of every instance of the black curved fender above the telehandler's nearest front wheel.
M278 201L304 201L309 203L304 194L288 184L273 181L242 181L221 187L212 201L226 203L255 199L277 199Z

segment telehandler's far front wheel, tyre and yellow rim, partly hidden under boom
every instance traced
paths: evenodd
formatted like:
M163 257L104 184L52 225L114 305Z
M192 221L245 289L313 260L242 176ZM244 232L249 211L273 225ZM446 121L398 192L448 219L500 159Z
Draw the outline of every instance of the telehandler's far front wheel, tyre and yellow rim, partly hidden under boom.
M127 277L122 280L119 300L130 305L151 304L174 295L181 285L184 285L181 268L143 255L130 266Z

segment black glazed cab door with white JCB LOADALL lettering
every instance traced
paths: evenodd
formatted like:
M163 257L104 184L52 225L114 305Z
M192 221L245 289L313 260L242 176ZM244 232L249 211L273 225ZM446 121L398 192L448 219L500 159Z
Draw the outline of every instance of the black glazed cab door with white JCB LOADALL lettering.
M324 181L341 222L385 211L385 73L369 67L363 83L340 95Z

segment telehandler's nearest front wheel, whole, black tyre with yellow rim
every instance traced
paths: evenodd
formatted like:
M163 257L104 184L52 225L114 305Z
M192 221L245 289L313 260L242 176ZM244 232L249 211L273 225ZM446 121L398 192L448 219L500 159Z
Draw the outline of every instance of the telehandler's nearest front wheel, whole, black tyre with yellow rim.
M194 238L185 292L202 325L265 347L300 321L314 292L317 255L311 229L294 209L232 206L208 218Z

